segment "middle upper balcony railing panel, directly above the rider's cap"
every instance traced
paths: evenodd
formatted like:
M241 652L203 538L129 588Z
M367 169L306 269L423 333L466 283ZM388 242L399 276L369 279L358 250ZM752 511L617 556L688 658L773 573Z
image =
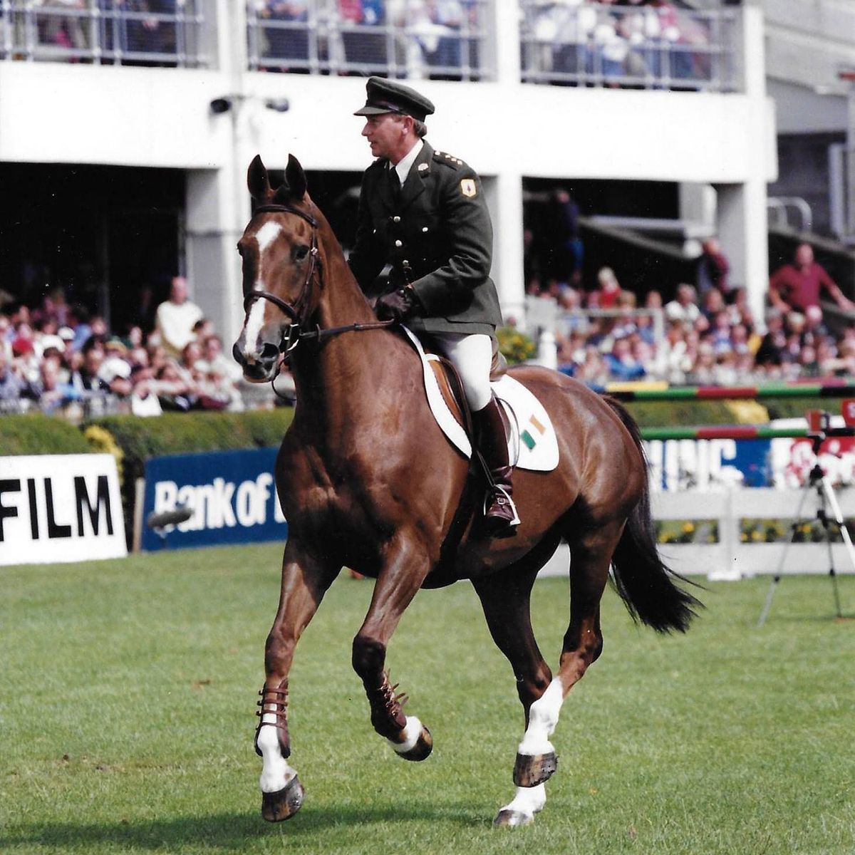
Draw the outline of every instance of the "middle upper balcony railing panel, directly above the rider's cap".
M487 15L492 0L366 0L349 13L352 5L249 0L249 68L431 80L495 76Z

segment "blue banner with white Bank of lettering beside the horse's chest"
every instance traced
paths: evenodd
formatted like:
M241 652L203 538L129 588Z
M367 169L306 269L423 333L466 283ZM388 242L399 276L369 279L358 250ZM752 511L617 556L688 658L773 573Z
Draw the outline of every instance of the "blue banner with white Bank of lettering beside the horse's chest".
M145 464L144 550L286 539L288 529L276 498L277 449L211 451L154 457ZM186 507L192 516L178 525L151 528L158 515Z

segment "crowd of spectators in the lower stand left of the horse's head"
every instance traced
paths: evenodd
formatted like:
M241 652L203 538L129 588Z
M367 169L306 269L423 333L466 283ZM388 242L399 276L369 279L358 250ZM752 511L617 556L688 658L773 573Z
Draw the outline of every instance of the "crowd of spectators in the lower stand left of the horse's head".
M263 396L272 403L272 396ZM183 277L157 307L155 327L111 333L100 316L68 305L62 292L35 309L0 309L0 413L68 416L244 410L257 404L221 337L187 298Z

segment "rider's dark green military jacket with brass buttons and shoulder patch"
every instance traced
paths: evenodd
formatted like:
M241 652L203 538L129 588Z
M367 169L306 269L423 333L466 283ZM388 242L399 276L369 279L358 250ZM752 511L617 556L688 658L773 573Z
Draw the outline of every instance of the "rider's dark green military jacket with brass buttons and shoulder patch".
M356 243L348 259L364 292L391 264L391 292L406 282L422 308L407 326L427 333L492 334L502 323L490 278L492 224L481 179L425 143L397 201L388 162L365 170Z

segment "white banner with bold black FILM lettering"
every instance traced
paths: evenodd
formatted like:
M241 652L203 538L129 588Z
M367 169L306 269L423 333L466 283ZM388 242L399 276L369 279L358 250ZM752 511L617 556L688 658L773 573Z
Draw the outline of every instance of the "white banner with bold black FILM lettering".
M126 555L114 457L0 457L0 565Z

